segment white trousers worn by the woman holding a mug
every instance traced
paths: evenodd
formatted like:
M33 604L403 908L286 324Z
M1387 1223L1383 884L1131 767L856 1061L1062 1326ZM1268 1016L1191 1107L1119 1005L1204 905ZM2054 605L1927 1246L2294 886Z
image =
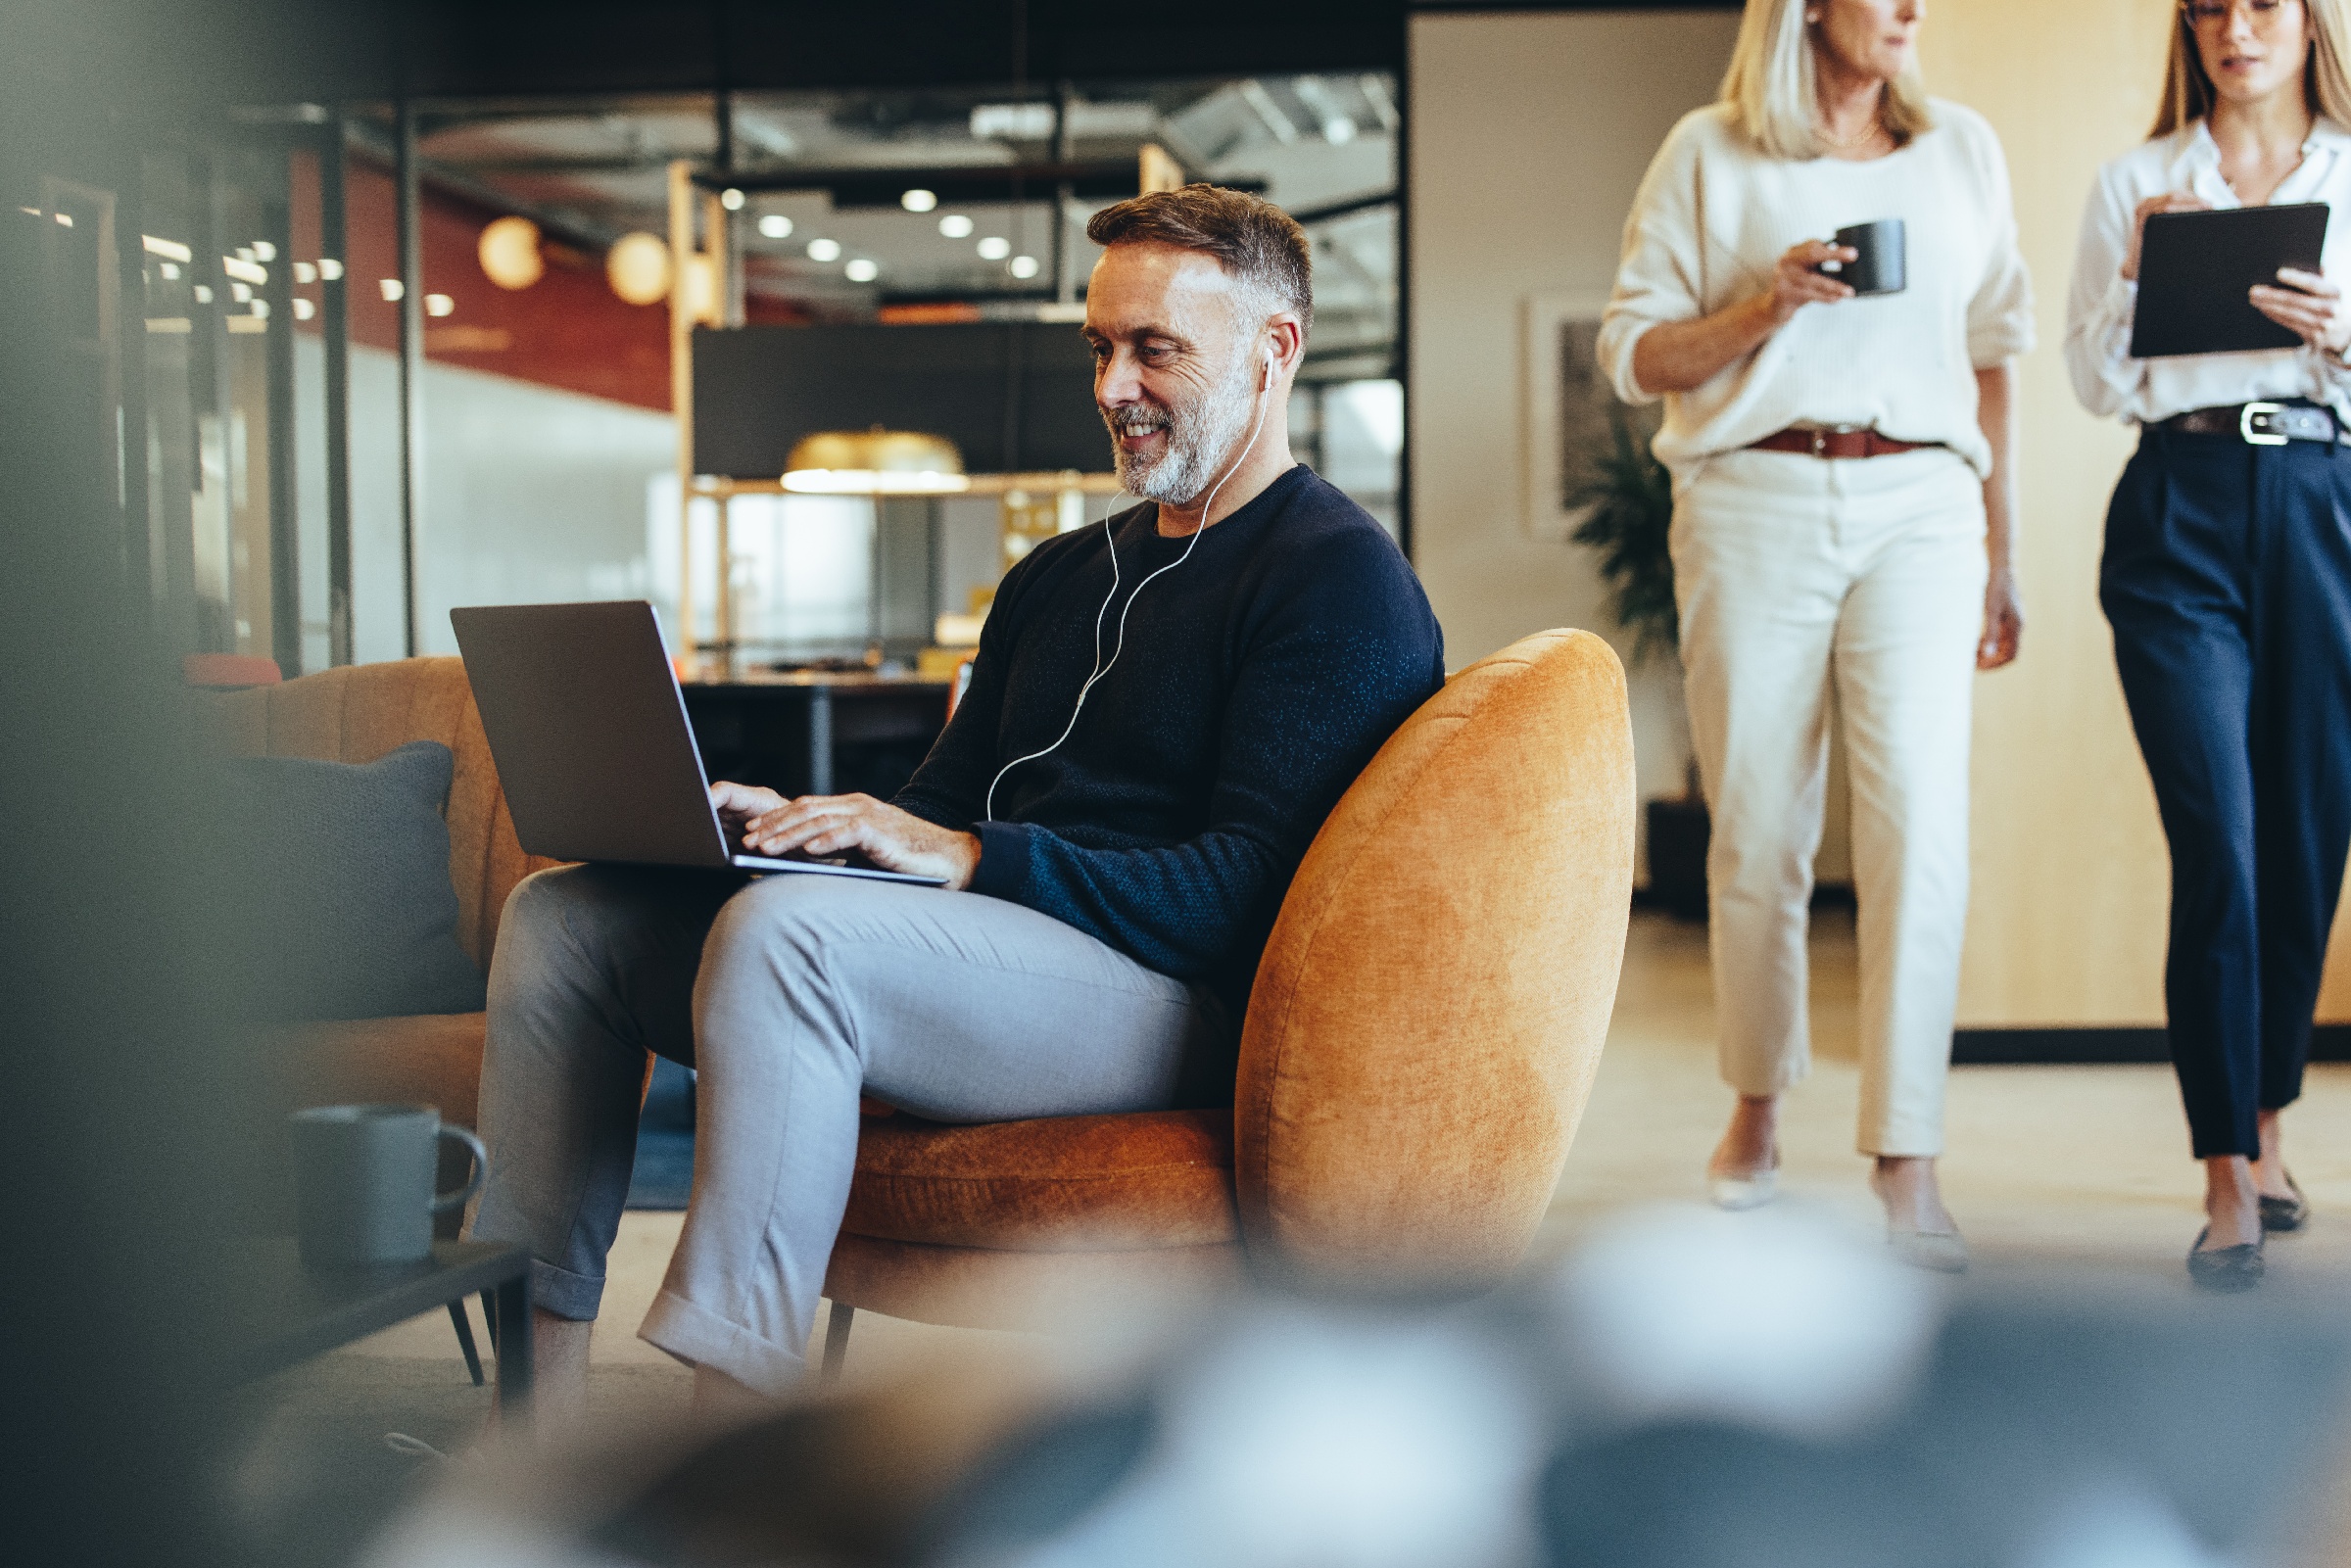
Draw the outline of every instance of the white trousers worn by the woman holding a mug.
M1984 491L1944 449L1730 451L1674 498L1723 1079L1810 1070L1806 926L1834 682L1853 778L1864 1154L1940 1154L1968 919Z

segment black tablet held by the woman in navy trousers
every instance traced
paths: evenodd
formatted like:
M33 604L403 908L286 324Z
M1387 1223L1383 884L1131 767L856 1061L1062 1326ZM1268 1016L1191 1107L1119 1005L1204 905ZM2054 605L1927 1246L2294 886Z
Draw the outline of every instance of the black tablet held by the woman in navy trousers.
M2245 292L2278 282L2280 266L2320 270L2325 242L2325 202L2154 214L2139 247L2130 357L2299 348L2302 339L2255 310Z

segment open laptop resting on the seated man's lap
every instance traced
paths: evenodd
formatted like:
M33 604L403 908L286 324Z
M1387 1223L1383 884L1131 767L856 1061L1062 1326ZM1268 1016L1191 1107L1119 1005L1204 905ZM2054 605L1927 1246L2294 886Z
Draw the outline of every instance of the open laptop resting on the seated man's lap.
M686 698L644 599L451 609L449 625L524 851L945 886L872 865L738 853L710 804Z

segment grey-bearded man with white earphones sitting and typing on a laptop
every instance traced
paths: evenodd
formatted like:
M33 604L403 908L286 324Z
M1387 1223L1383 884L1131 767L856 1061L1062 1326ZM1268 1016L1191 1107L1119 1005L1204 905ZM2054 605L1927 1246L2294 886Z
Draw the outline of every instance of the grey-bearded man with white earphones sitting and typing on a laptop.
M858 1100L938 1121L1218 1105L1324 816L1444 684L1387 534L1291 458L1312 256L1213 186L1119 202L1093 395L1145 503L1013 567L893 799L710 785L752 853L947 891L618 865L515 889L489 976L475 1234L531 1248L541 1410L585 1392L647 1051L701 1072L694 1204L642 1338L696 1399L802 1375Z

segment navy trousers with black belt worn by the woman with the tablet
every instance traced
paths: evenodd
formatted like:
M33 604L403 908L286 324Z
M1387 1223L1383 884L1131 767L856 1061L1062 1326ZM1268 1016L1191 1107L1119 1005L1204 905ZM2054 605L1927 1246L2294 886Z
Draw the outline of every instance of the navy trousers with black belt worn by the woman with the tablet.
M2351 849L2351 449L2146 428L2099 604L2172 846L2163 992L2196 1157L2292 1105Z

